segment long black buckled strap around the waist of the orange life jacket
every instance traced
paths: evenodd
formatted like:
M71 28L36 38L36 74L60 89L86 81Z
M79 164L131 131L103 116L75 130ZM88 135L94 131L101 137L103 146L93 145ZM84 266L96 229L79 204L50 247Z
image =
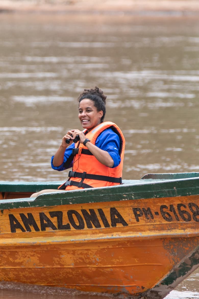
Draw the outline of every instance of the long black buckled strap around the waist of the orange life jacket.
M97 174L90 174L90 173L86 173L86 172L76 172L76 171L69 171L68 176L70 178L81 178L81 179L90 179L90 180L98 180L98 181L107 181L107 182L111 182L111 183L119 183L122 184L122 178L114 178L111 176L100 176ZM81 180L82 181L82 180Z

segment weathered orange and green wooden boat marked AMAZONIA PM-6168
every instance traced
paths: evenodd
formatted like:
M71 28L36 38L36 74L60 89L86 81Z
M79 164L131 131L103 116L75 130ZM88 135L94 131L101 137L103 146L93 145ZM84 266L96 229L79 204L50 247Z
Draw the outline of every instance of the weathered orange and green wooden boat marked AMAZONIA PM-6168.
M162 299L199 266L199 173L63 192L0 182L0 281Z

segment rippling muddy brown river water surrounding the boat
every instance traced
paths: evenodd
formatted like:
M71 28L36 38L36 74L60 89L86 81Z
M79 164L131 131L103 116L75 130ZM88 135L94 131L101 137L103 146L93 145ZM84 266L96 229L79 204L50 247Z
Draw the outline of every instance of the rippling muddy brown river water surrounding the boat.
M0 181L63 180L50 158L99 86L126 138L124 179L199 171L199 19L0 15ZM167 299L199 298L199 270ZM41 295L42 294L42 295ZM0 284L4 299L104 299Z

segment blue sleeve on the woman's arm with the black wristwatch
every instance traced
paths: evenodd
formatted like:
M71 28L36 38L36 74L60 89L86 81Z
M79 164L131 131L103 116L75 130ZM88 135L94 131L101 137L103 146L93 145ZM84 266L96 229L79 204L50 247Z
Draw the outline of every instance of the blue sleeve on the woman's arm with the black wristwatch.
M109 153L109 155L114 161L112 168L120 164L120 138L118 134L113 132L112 129L108 128L101 132L101 134L98 136L95 142L95 145Z

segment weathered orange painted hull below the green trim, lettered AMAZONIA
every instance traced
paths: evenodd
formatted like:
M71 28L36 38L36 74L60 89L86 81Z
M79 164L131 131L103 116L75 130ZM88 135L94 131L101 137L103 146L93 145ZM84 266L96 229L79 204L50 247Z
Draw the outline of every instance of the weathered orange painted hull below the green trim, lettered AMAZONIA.
M198 267L198 205L196 195L4 209L0 280L163 298L175 269Z

